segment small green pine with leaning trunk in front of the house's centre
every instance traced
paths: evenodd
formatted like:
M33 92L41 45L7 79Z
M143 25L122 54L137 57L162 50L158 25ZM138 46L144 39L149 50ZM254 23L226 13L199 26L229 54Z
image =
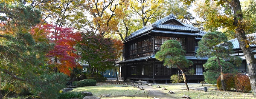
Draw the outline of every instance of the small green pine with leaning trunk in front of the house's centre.
M185 53L186 51L182 49L180 42L176 40L168 40L164 42L163 45L161 45L160 51L158 51L156 54L156 59L163 61L163 65L165 66L177 66L177 68L179 68L182 73L187 91L189 91L184 71L189 66L193 65L193 62L186 59Z

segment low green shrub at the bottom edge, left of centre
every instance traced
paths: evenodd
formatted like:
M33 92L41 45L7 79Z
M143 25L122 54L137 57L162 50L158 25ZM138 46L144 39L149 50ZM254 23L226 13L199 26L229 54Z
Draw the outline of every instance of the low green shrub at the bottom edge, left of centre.
M73 99L73 98L84 98L84 95L81 92L69 91L66 93L60 93L58 99Z

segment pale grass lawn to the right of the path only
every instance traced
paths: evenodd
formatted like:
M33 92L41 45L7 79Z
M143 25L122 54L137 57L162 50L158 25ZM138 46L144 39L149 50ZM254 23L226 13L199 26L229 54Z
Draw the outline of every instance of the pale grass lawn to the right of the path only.
M152 86L155 87L156 85ZM241 93L234 91L215 91L212 89L216 89L210 84L188 84L189 91L186 90L186 86L184 84L161 84L160 87L164 87L167 90L161 90L158 88L157 90L161 90L164 93L168 93L169 90L174 91L174 94L170 94L173 97L180 98L181 96L189 95L192 99L256 99L253 97L253 93ZM207 92L204 92L204 87L207 87ZM202 91L198 90L201 89Z

